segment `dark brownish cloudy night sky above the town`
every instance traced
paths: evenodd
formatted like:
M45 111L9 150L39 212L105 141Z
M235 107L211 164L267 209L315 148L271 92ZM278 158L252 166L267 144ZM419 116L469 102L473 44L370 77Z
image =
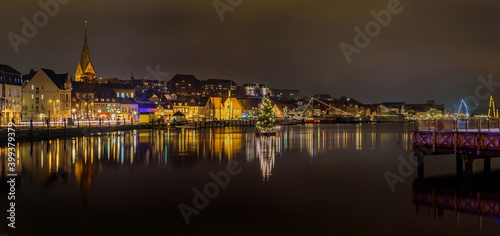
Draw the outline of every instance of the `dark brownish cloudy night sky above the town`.
M71 0L16 54L7 35L22 36L21 18L32 22L42 8L37 1L3 0L0 63L74 77L88 20L92 62L104 78L142 78L146 67L159 64L167 79L194 74L364 103L434 99L449 108L474 96L478 76L500 81L495 0L402 0L402 12L348 64L340 43L352 45L354 27L364 29L374 20L370 11L389 2L243 0L221 21L212 0ZM500 92L494 94L500 102Z

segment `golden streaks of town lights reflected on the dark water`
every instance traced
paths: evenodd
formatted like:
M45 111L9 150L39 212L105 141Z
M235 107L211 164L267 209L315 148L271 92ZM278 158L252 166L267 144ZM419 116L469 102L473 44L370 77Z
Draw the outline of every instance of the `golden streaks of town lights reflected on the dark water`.
M198 160L221 162L244 156L249 163L258 161L267 180L275 158L289 151L314 158L335 150L375 150L396 144L410 150L409 140L408 132L377 132L374 124L284 127L276 137L262 138L252 128L142 130L20 143L17 162L19 174L36 182L74 175L82 187L88 187L92 175L103 167L182 167ZM0 150L5 157L7 149ZM5 178L6 162L2 160Z

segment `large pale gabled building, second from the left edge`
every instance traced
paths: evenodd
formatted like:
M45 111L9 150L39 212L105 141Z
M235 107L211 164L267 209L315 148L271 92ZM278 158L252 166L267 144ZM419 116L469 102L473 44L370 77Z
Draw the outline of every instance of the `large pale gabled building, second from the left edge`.
M49 69L40 69L27 75L29 81L22 89L22 119L28 121L62 120L71 117L71 89L69 75L56 74Z

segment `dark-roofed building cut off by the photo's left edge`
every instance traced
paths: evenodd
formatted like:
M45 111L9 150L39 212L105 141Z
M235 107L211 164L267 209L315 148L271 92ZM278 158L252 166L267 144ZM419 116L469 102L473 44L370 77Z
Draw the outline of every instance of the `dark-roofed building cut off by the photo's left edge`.
M0 64L1 124L21 120L22 74L8 65Z

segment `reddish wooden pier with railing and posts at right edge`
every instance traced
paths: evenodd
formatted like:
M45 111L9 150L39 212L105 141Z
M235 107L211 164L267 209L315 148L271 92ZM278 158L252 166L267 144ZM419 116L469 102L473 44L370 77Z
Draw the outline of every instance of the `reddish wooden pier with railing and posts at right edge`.
M484 172L491 172L491 158L500 157L500 120L417 121L412 146L419 159L419 178L423 178L425 156L455 154L457 175L472 175L476 159L484 159ZM421 168L420 168L421 167Z

